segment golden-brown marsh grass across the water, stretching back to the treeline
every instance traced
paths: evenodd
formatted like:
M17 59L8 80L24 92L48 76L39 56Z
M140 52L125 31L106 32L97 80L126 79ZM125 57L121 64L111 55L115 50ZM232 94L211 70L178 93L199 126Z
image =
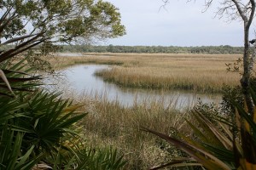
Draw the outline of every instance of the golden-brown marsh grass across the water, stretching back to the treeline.
M55 68L96 63L115 65L98 76L123 87L186 89L219 92L223 84L239 84L238 73L227 72L225 64L241 55L228 54L84 54L83 57L58 57Z

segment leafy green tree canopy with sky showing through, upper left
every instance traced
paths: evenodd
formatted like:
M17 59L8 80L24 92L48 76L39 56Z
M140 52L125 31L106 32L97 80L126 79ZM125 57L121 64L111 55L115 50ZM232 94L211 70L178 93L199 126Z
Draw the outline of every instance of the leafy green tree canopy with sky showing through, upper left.
M0 61L38 44L83 43L124 34L119 9L102 0L0 0ZM12 48L3 48L9 44Z

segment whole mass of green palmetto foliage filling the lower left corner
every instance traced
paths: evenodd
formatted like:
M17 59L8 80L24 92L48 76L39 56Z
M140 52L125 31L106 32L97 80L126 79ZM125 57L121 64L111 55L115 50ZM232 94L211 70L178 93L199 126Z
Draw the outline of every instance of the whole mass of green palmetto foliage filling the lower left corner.
M83 105L61 99L60 93L49 94L37 89L38 82L32 82L37 78L26 78L31 77L30 69L24 67L26 59L15 64L8 62L1 65L2 70L8 71L6 83L11 87L9 92L3 90L6 95L0 96L1 169L124 167L123 156L119 156L117 150L86 149L82 133L77 130L80 127L76 125L85 116L77 111ZM20 81L22 79L25 81Z

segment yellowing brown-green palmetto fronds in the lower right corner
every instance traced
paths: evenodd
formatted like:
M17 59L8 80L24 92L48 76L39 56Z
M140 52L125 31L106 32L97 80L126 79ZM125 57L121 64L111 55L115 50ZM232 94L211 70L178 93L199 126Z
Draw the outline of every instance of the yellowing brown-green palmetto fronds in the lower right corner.
M250 93L254 105L256 104L255 91L255 87L251 88ZM154 133L170 144L174 144L189 156L177 159L178 161L173 161L168 165L174 167L194 166L190 163L199 162L200 164L197 166L201 165L207 169L255 169L256 112L250 115L246 105L243 107L234 99L232 105L236 108L232 116L218 113L207 117L206 115L209 113L203 110L192 111L197 123L193 124L186 120L193 130L193 135L190 137L179 132L177 132L178 137L173 137L148 128L143 128L143 130ZM254 107L254 111L256 111L255 109L256 107Z

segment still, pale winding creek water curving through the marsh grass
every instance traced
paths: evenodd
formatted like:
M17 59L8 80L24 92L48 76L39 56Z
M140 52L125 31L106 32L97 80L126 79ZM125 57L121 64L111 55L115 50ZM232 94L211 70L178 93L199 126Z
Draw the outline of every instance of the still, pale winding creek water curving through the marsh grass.
M160 101L163 105L171 105L176 109L188 108L195 105L200 98L205 103L218 103L218 94L195 94L188 91L161 91L139 88L121 88L113 83L104 82L102 77L96 77L95 71L111 69L109 65L74 65L60 71L60 79L50 80L58 90L72 89L76 94L86 94L94 97L104 95L108 101L119 101L120 105L132 106L140 103ZM64 88L66 87L66 89Z

